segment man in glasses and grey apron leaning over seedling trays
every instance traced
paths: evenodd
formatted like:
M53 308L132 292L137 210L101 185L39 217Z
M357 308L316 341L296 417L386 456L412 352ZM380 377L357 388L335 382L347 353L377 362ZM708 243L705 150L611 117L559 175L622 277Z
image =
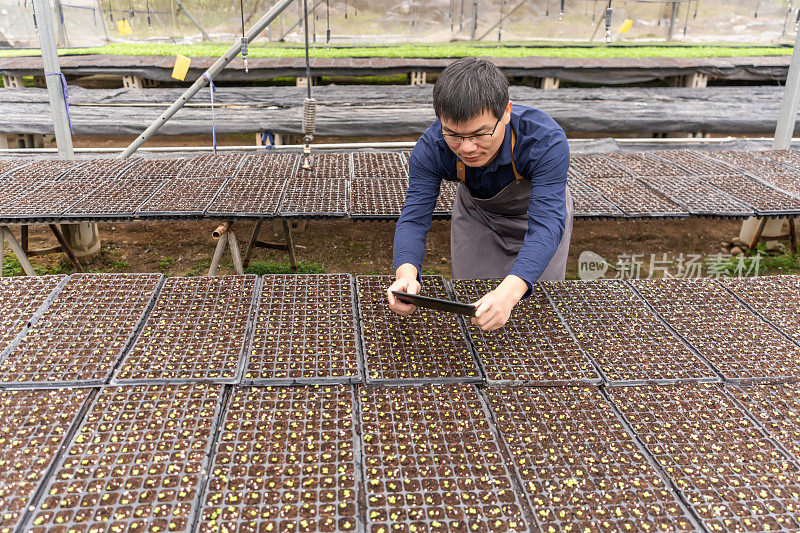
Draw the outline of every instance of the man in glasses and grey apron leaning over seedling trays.
M534 282L564 279L573 208L567 138L543 111L512 106L508 80L483 59L459 59L444 69L433 107L438 118L411 153L389 306L404 316L414 312L391 291L419 292L441 181L458 180L450 232L453 278L502 278L474 302L472 323L495 330Z

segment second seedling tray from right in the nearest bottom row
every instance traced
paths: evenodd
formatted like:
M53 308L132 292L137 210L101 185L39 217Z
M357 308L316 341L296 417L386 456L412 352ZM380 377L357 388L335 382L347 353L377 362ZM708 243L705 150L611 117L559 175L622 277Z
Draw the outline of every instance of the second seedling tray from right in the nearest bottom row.
M800 469L718 385L607 391L707 530L800 528Z

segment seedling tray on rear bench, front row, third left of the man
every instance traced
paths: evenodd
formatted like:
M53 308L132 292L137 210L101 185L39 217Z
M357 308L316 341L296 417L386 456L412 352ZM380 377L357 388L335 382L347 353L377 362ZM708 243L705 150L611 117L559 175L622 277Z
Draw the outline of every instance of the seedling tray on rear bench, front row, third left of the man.
M207 214L237 218L275 216L286 182L263 177L226 180L219 196L208 207Z

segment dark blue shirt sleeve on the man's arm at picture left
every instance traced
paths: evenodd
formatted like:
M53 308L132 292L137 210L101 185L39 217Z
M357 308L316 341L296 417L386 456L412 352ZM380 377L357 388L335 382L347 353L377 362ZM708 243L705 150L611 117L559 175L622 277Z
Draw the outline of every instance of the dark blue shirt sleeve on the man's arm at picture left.
M425 257L425 240L431 229L436 198L442 185L437 174L438 164L430 148L417 143L409 163L408 191L406 203L394 231L394 268L410 263L422 274L422 260Z

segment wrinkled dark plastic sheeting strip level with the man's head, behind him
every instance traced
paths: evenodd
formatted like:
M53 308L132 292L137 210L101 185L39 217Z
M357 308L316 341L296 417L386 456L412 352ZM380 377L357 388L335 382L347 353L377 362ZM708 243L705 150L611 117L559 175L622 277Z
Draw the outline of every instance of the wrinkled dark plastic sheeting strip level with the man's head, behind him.
M70 116L78 135L138 135L182 89L70 87ZM515 104L550 114L569 135L712 133L772 136L782 87L626 87L543 91L512 86ZM327 85L316 87L316 134L334 137L420 135L435 120L432 86ZM302 87L219 87L217 133L271 131L301 134ZM0 89L0 132L52 134L45 89ZM209 91L200 91L158 131L211 133ZM795 128L800 134L800 127Z

